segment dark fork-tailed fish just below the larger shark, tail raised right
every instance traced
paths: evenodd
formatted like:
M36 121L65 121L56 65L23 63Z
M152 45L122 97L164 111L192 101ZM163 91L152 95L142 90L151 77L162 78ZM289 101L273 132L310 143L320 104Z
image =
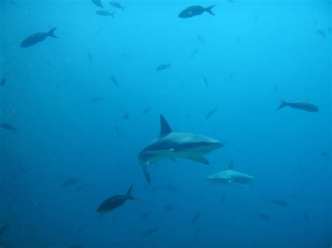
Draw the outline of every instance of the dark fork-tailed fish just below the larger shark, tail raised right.
M97 212L102 213L102 214L104 214L106 212L111 212L111 211L115 210L116 208L125 204L125 202L127 200L138 200L137 198L134 198L134 196L132 196L132 194L131 194L132 187L134 187L134 185L130 186L130 188L128 189L127 194L125 196L112 196L112 197L104 200L102 202L102 204L99 205L99 207L97 208Z

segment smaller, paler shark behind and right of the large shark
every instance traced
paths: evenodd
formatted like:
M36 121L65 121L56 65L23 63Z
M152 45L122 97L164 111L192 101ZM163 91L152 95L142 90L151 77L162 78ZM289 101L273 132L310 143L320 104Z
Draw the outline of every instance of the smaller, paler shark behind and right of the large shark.
M230 161L228 170L223 170L219 173L209 175L206 180L210 184L235 184L242 187L249 187L251 184L251 189L254 185L254 177L252 177L251 171L249 172L249 175L238 173L234 170L233 161Z

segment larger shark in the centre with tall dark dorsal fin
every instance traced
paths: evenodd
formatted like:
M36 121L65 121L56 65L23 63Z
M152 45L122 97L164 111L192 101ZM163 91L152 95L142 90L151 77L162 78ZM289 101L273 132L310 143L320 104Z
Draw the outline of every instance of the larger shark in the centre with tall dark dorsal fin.
M175 158L209 164L203 155L220 147L223 147L223 143L207 136L173 132L165 117L160 115L160 135L141 149L138 159L146 180L151 184L148 166L158 164L160 160Z

